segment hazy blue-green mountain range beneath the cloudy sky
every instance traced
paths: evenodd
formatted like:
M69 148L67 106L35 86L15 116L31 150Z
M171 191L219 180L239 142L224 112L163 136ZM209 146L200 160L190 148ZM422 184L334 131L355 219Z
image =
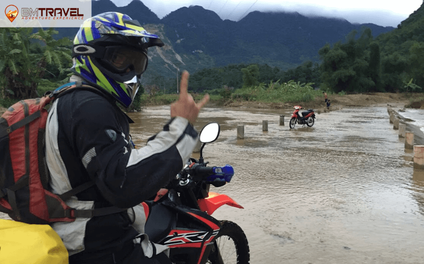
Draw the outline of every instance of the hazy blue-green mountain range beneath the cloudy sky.
M139 20L148 31L160 35L166 46L149 50L149 70L145 82L171 78L179 70L196 72L228 64L258 63L281 70L305 61L319 62L318 50L326 43L344 41L352 30L364 26L374 36L394 27L352 24L344 19L306 17L299 13L259 12L247 14L235 22L222 20L201 6L182 7L159 19L140 0L117 7L110 0L92 1L92 13L126 13ZM73 38L77 28L62 28L59 36Z

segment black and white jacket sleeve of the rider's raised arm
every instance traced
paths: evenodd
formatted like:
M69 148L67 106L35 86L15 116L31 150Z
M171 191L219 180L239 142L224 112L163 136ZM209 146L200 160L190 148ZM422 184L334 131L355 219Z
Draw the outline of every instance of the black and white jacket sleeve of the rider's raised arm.
M119 116L108 104L80 105L72 119L71 134L102 195L118 207L129 208L152 197L176 177L196 146L198 132L187 119L176 117L146 146L128 149Z

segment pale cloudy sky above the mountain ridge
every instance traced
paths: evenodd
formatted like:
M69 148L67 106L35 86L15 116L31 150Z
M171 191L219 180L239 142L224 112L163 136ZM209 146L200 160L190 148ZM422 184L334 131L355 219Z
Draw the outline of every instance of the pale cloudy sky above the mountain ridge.
M112 0L125 6L132 0ZM345 18L351 23L396 27L417 10L423 0L142 0L159 18L183 6L200 5L222 19L240 20L251 11L289 11L307 16Z

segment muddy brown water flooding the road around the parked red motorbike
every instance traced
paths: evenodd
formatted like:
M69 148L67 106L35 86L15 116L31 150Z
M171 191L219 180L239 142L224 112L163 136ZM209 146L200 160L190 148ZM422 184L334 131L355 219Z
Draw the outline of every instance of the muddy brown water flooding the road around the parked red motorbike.
M142 146L160 131L169 111L158 106L130 114L134 142ZM222 206L212 216L244 230L250 263L424 263L424 172L414 171L413 153L405 151L387 108L321 113L312 128L292 130L290 116L209 106L196 123L199 131L220 125L204 158L232 165L235 174L211 191L244 209ZM244 139L236 138L237 125L244 125Z

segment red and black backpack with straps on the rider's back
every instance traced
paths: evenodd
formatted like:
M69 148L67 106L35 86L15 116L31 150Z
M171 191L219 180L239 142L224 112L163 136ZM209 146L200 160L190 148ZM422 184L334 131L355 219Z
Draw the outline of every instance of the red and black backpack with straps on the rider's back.
M77 217L89 218L124 211L108 207L75 210L65 200L88 189L94 182L84 183L66 193L48 191L49 172L45 161L45 106L70 88L81 83L65 84L42 98L26 99L7 109L0 118L0 212L15 221L28 224L72 222Z

